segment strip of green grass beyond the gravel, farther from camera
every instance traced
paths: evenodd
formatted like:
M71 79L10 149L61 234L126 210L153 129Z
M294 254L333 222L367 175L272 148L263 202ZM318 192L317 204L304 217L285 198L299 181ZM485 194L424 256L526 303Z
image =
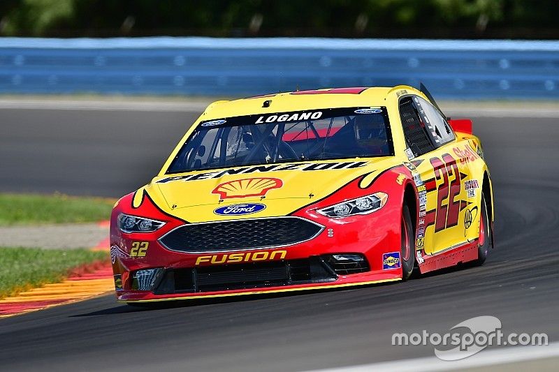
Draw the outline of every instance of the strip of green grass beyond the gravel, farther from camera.
M108 220L114 203L61 194L0 194L0 226Z

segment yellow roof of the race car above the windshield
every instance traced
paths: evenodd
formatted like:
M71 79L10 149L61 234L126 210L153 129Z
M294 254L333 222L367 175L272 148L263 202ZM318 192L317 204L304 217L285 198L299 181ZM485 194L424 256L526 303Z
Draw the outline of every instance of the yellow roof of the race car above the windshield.
M241 98L234 101L216 101L206 108L201 120L238 117L251 114L269 114L333 107L370 107L386 105L386 97L399 89L421 94L413 87L349 87L290 91ZM268 103L265 104L265 102Z

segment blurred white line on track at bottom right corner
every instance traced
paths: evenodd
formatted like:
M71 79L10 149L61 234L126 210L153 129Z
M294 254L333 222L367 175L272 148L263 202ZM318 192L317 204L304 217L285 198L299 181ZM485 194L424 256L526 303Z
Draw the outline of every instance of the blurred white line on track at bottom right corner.
M363 364L361 366L347 366L335 369L321 369L321 372L427 372L427 371L456 371L485 366L496 366L525 362L536 359L559 357L559 343L550 343L544 346L518 346L482 351L466 359L447 362L437 357L424 357L414 359L396 360L394 362L381 362Z

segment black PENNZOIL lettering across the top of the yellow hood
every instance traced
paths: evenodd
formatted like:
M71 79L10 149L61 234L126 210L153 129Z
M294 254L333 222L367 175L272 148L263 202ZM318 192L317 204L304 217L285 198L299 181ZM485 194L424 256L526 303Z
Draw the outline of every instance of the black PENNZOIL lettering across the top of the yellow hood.
M170 181L196 181L198 179L216 179L224 177L228 174L249 174L256 172L278 172L280 170L299 170L301 172L309 172L312 170L347 170L361 168L368 165L368 161L349 161L349 162L333 162L333 163L292 163L292 164L272 164L272 165L254 165L252 167L231 168L228 170L219 170L215 172L206 172L198 174L187 174L184 176L171 176L157 181L158 184L166 184Z

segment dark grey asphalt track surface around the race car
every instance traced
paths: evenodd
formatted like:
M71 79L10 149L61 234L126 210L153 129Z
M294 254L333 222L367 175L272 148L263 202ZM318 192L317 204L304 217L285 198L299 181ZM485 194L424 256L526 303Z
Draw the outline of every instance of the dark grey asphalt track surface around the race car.
M194 112L0 110L1 191L117 197L145 183ZM559 340L559 119L474 117L495 189L482 267L299 295L157 310L113 295L0 319L0 369L292 371L433 356L394 332L493 315ZM482 352L483 353L483 352ZM474 358L474 357L472 357Z

